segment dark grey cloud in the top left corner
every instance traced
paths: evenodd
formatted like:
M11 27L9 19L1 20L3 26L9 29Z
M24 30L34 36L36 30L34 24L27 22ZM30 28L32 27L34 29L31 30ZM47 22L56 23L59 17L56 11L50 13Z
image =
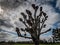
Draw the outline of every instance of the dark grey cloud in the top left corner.
M23 4L25 0L3 0L0 1L0 5L6 8L16 8L19 5Z

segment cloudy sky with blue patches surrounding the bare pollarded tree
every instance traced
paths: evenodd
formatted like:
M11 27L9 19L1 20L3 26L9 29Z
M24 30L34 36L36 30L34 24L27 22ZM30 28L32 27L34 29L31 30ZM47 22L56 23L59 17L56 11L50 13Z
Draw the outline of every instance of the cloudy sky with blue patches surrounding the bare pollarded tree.
M47 26L41 32L49 28L60 28L60 0L36 0L36 2L35 0L18 0L17 2L16 0L0 0L0 41L30 40L18 37L15 28L25 27L18 19L22 17L20 13L25 12L25 9L34 11L31 8L31 4L42 6L43 11L48 15L48 20L46 21ZM52 31L41 35L41 39L49 39L51 35Z

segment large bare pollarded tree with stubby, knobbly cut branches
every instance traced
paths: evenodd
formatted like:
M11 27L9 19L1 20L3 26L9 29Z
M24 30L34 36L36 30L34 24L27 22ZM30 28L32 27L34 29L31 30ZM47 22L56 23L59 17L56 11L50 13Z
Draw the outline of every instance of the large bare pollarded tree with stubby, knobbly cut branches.
M16 32L19 37L32 39L35 45L39 45L40 35L50 31L51 29L48 29L45 32L41 32L41 30L46 27L45 21L47 20L48 16L46 15L45 12L42 11L42 7L40 7L39 15L36 15L36 13L38 13L37 10L39 6L35 6L35 4L32 4L31 6L35 11L34 16L32 16L30 10L26 9L27 15L21 12L21 15L23 16L24 20L22 18L19 18L19 21L21 21L26 26L25 29L21 28L21 31L25 32L24 36L21 35L21 32L19 31L18 27L16 27ZM28 37L26 32L28 32L31 35L31 37Z

